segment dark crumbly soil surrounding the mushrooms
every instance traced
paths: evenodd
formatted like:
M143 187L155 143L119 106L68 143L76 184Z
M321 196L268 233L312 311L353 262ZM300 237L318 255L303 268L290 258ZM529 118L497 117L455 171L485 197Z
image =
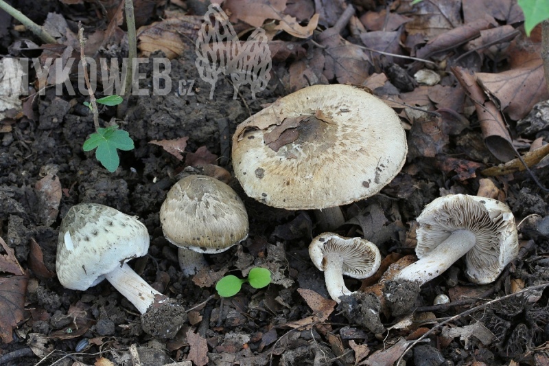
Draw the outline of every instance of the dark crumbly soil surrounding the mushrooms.
M29 4L22 9L38 23L49 11L69 11L65 5L54 5L51 1L33 1L32 7ZM39 14L34 12L37 9ZM2 12L0 19L5 19ZM10 20L0 21L1 54L7 54L14 41L33 37L8 32L3 27L7 22ZM16 119L10 132L0 134L0 236L14 249L16 259L29 276L24 319L14 330L12 342L0 343L1 365L79 365L75 361L92 365L100 356L114 365L132 365L128 352L132 344L138 346L143 365L165 365L184 361L189 350L198 347L189 332L207 341L207 350L202 351L209 357L208 365L267 365L270 362L274 365L353 365L351 341L367 345L371 352L385 350L418 328L430 328L435 319L451 317L480 304L470 301L460 306L416 312L414 325L388 333L383 332L383 328L399 319L382 315L383 324L375 323L375 319L363 319L354 313L357 310L352 303L346 309L338 308L331 313L327 321L301 323L297 327L289 325L318 315L307 306L297 291L299 288L314 290L329 298L323 274L312 265L307 251L310 240L318 234L314 216L306 211L290 212L261 205L247 198L235 179L230 185L248 209L248 239L224 253L205 255L211 278L202 276L194 281L184 277L178 266L176 248L163 237L159 210L185 164L150 141L189 137L187 152L206 146L220 157L218 165L231 171L229 141L237 124L250 113L261 110L262 105L289 93L280 81L283 76L277 75L256 100L246 88L241 88L242 98L233 100L231 83L220 79L215 98L210 100L210 85L200 80L194 57L194 47L189 47L182 56L172 60L171 73L173 80L194 80L194 95L180 95L174 85L169 95L129 99L122 127L135 141L135 150L120 152L121 165L115 173L106 171L95 160L93 152L82 151L84 140L94 132L92 115L82 106L85 100L82 96L57 97L54 89L47 89L46 95L36 100L36 121L27 117ZM284 65L278 66L277 70L281 70ZM151 67L143 67L141 72L150 76ZM74 85L78 87L76 82ZM115 108L104 108L100 114L102 126L114 115ZM480 135L478 125L452 137L447 154L458 155L469 150L467 156L482 156L478 150L460 144L468 134ZM347 219L357 220L349 221L338 233L345 236L364 233L367 239L378 244L383 256L412 253L406 245L406 231L410 229L407 223L421 213L425 204L447 192L476 194L478 189L478 179L453 179L435 166L434 159L414 159L380 194L343 207ZM45 214L42 198L34 189L36 182L48 173L58 177L63 189L59 211L53 220ZM536 174L540 183L548 187L548 170L537 170ZM518 282L526 287L549 282L548 195L526 173L512 176L505 182L505 189L506 203L517 216L517 222L525 216L537 215L526 221L522 231L522 240L531 239L534 243L528 253L513 262L502 280L489 285L493 288L491 299L511 293L511 286ZM82 202L115 207L139 216L146 225L151 237L149 255L133 260L130 265L145 281L191 309L187 323L174 339L154 340L143 332L137 310L108 282L82 292L63 288L56 277L45 275L47 271L55 273L62 217L71 206ZM377 221L379 215L383 218L381 223ZM43 253L47 271L38 273L38 267L31 264L32 240ZM252 266L265 266L272 271L273 282L268 288L255 290L244 284L235 297L220 299L215 295L215 279L224 273L242 277ZM417 299L415 293L408 297L407 310L431 306L440 293L471 288L460 268L458 263L451 271L425 284ZM360 288L357 280L349 279L347 285L352 290ZM403 288L399 286L398 290ZM471 296L472 292L465 293ZM524 365L534 364L533 350L549 341L546 307L549 294L540 289L525 296L510 297L452 323L455 327L465 327L481 322L495 335L488 344L483 344L474 334L465 337L467 341L465 338L443 341L439 333L434 332L425 344L404 355L406 364L471 365L476 361L504 365L511 359ZM368 304L361 306L379 313L375 301ZM419 314L423 313L429 316L422 321ZM443 347L441 342L447 344Z

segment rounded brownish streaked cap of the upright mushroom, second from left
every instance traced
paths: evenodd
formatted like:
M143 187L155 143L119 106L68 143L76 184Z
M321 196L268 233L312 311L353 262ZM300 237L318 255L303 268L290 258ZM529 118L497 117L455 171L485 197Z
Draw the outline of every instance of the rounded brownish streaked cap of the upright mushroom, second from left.
M200 253L221 253L248 237L248 214L238 194L205 175L180 179L160 209L167 240Z

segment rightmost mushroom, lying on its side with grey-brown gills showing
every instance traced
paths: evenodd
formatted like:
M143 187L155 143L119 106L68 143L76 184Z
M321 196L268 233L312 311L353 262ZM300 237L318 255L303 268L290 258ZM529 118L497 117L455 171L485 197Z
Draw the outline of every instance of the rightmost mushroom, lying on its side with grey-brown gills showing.
M423 285L465 255L465 275L489 284L518 253L515 218L500 201L464 194L432 201L417 218L417 262L396 279Z

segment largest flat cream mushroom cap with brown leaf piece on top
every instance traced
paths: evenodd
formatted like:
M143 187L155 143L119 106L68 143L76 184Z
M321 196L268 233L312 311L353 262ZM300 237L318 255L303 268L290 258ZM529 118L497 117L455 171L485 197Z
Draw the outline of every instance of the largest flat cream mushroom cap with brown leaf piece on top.
M237 126L233 168L248 196L283 209L323 209L379 192L406 160L392 108L364 89L314 85Z

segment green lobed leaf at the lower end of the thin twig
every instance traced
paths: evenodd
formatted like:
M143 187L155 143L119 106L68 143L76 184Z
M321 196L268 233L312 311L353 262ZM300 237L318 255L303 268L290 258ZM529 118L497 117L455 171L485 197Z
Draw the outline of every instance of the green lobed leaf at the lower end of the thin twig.
M109 172L114 172L120 164L117 149L132 150L134 148L130 134L124 130L119 130L118 126L107 128L97 128L96 133L92 133L82 146L84 151L91 151L95 148L95 158Z

